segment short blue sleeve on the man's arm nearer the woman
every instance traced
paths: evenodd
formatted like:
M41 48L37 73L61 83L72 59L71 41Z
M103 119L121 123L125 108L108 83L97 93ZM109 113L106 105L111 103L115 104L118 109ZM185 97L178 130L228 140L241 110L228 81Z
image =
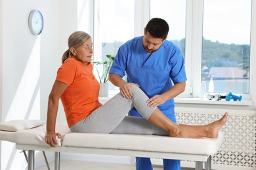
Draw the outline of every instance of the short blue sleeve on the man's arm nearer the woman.
M127 48L125 44L119 47L116 58L114 59L110 68L110 73L121 76L125 76L127 66Z

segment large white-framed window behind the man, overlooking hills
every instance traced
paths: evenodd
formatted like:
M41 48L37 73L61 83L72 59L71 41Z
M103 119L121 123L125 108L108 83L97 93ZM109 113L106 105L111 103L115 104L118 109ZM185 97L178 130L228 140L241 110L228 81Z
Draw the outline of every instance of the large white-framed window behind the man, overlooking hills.
M185 58L188 80L182 97L199 97L202 77L209 92L213 77L215 93L241 93L244 99L251 99L250 54L255 53L256 42L251 36L256 5L251 0L94 2L95 61L105 60L106 54L115 55L121 44L142 35L150 18L163 18L170 27L167 39Z

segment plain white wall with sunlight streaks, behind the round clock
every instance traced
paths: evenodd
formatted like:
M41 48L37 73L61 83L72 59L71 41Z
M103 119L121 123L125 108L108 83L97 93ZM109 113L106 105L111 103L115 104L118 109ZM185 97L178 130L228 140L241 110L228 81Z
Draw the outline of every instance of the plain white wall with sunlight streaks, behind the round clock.
M28 28L31 10L40 10L45 25L39 36ZM46 120L48 95L70 33L77 29L77 1L0 1L0 121ZM58 122L66 122L62 105ZM1 169L25 169L14 144L1 143ZM36 160L44 163L41 153Z

